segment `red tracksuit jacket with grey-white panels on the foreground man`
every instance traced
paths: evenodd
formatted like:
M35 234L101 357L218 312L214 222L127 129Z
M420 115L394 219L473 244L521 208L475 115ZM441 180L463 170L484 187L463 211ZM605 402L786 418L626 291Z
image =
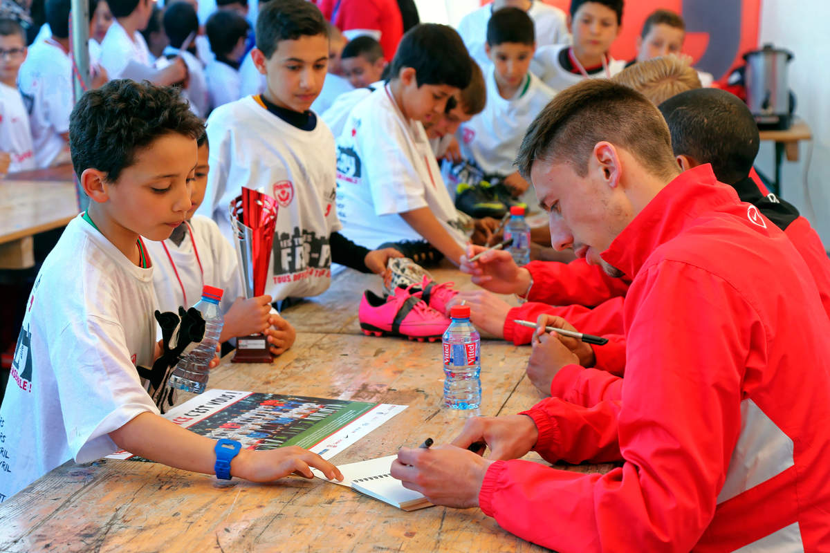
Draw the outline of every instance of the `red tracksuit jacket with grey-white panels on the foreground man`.
M704 167L603 259L633 276L623 400L525 414L547 460L623 466L497 461L482 511L562 553L830 551L830 320L789 239Z

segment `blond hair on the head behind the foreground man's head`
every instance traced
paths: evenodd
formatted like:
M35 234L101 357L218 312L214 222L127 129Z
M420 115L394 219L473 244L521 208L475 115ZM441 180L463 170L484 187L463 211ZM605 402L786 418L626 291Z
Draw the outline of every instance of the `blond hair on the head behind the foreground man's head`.
M642 93L655 105L686 90L703 88L686 56L662 56L638 61L613 76L615 82Z

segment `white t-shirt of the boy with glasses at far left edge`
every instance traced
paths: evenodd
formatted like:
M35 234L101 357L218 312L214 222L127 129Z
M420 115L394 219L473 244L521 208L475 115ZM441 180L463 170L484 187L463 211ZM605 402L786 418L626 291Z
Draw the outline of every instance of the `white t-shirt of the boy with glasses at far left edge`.
M8 172L37 169L29 114L20 91L0 83L0 151L12 158Z

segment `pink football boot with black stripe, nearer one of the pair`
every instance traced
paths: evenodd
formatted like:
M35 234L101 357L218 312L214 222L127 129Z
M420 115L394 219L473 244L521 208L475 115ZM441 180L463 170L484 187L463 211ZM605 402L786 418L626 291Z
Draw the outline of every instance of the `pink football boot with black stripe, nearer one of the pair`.
M358 320L366 336L405 336L418 342L436 342L450 326L449 318L404 289L386 298L366 290Z

